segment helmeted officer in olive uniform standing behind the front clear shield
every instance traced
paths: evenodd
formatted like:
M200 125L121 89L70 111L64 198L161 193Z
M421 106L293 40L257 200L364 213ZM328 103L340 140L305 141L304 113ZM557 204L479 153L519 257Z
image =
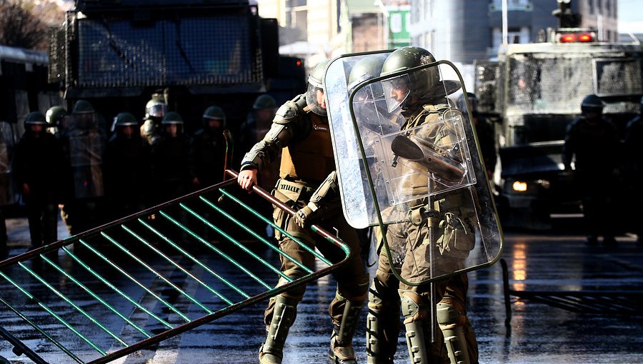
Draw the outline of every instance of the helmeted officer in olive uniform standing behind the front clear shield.
M402 47L389 54L382 64L381 76L434 61L426 49ZM440 81L437 69L432 68L409 71L409 74L383 83L384 94L390 101L389 111L399 109L404 116L402 130L407 130L408 135L416 140L434 146L444 155L454 152L449 148L456 140L452 128L440 122L442 115L449 110L446 96L459 89L459 85L450 82ZM427 178L423 173L410 176L404 185L411 193L409 196L425 196L432 192L429 190L437 176ZM464 188L435 196L439 197L412 199L407 221L384 226L384 231L377 229L377 235L385 234L389 247L397 248L404 261L397 266L396 262L389 261L384 249L380 252L377 273L369 290L368 363L392 363L397 349L400 309L412 363L444 363L449 360L451 363L477 363L477 341L466 312L467 274L437 280L432 294L431 285L407 285L397 280L393 273L397 270L405 280L419 283L432 273L442 275L464 268L464 259L475 243L473 203ZM429 263L427 251L433 246L441 247L440 256ZM431 305L436 303L437 322L442 330L436 330L437 340L432 342Z

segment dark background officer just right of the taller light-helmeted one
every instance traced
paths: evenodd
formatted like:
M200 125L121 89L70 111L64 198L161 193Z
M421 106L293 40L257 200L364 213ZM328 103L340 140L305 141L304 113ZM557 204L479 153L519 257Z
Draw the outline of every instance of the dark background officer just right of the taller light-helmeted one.
M190 191L191 140L183 131L183 118L171 111L161 121L160 138L151 146L152 178L156 183L156 203L169 201Z

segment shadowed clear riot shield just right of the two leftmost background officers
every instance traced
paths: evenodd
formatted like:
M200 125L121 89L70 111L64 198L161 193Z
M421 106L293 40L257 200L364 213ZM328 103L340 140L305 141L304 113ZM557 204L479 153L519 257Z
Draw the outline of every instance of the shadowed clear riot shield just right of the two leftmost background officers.
M98 126L96 113L71 115L68 118L66 138L74 178L74 197L103 196L102 163L106 137Z

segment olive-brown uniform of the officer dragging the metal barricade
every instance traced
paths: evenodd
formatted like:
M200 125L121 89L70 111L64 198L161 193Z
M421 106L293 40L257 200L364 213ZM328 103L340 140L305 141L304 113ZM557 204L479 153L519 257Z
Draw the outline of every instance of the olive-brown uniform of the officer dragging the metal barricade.
M273 138L274 136L274 138ZM311 111L306 105L304 95L296 96L292 101L287 101L279 108L271 126L271 131L259 143L256 143L249 153L246 153L241 164L241 171L254 168L259 171L268 168L279 152L281 166L279 180L274 188L274 196L288 204L295 210L300 210L309 203L311 196L330 173L334 171L334 154L330 139L328 119ZM351 340L354 333L355 322L359 317L362 303L367 295L368 275L364 271L360 258L359 238L354 228L348 225L342 214L339 194L333 196L331 201L323 201L319 210L324 212L318 215L316 224L328 231L335 231L352 251L352 257L342 268L334 272L337 280L337 293L329 305L329 315L332 317L335 328L342 324L342 319L352 320L352 332L344 342L348 350L343 354L349 361L340 360L339 363L354 363L350 361L352 353ZM343 253L332 248L329 243L309 229L299 226L295 219L282 211L274 209L274 222L284 228L286 232L306 243L311 248L316 247L330 261L337 262L343 258ZM305 251L298 243L288 236L276 233L279 248L301 261L305 266L312 268L314 256ZM306 275L296 264L286 258L281 258L281 271L289 277L296 279ZM284 284L280 280L279 284ZM304 295L305 286L281 293L269 301L265 312L266 330L269 338L262 345L260 352L261 363L281 363L282 348L287 330L294 320L296 305ZM279 312L277 312L279 311ZM279 315L279 316L277 316ZM281 317L289 321L284 323ZM281 321L280 321L281 320ZM277 328L277 326L279 328ZM285 326L285 333L280 330ZM273 340L272 336L279 336ZM343 350L343 349L342 349ZM267 358L269 354L269 358Z

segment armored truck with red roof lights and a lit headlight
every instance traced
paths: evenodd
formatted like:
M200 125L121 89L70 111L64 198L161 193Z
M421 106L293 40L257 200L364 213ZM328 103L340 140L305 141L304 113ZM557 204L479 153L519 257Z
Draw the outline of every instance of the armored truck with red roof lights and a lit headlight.
M552 215L580 212L562 163L565 129L594 93L622 136L639 111L642 59L637 42L608 43L593 29L559 28L540 43L506 44L497 61L474 65L479 111L501 120L494 183L503 226L549 228Z

